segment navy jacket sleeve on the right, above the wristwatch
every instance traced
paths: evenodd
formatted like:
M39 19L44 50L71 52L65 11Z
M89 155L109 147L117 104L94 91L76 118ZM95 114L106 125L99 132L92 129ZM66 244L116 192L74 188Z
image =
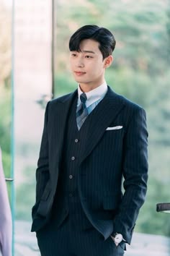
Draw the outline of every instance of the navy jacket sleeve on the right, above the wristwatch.
M135 221L146 197L148 181L148 132L146 112L136 107L124 140L122 172L125 189L117 216L113 221L115 233L122 234L130 244ZM112 234L112 235L113 235Z

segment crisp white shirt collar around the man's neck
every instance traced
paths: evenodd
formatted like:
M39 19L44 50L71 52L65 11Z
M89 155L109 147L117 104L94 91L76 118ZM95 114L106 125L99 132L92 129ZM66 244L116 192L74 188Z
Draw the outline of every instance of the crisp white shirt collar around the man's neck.
M80 101L80 95L82 90L80 88L80 85L78 86L78 105L81 103ZM104 98L104 95L107 93L107 82L104 81L102 85L99 85L94 90L90 90L88 93L86 93L86 107L88 108L91 104L93 104L96 101L99 101L100 98Z

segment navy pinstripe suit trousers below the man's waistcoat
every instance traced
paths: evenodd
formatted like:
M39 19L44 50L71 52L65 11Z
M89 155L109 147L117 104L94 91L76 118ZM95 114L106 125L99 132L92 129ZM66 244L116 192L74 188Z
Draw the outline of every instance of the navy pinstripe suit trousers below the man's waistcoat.
M74 223L74 225L73 225ZM79 223L68 215L61 226L55 225L55 218L40 231L37 231L37 243L41 256L122 256L122 245L116 247L109 237L104 237L94 227L79 229Z

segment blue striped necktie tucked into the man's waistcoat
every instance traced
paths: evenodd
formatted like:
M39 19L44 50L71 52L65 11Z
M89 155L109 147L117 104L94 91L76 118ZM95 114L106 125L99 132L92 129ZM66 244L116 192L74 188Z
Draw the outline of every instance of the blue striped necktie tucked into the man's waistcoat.
M80 95L80 105L77 108L76 111L76 121L77 121L77 127L78 129L81 128L81 126L84 124L84 121L86 120L88 116L88 110L86 108L86 93L82 93Z

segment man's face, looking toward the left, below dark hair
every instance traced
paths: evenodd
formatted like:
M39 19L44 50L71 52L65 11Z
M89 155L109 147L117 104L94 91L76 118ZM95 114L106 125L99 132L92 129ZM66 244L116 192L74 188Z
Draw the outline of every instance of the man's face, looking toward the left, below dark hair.
M79 82L81 90L87 92L104 82L105 62L108 57L103 60L99 43L95 40L82 40L80 50L71 51L71 72L76 82Z

